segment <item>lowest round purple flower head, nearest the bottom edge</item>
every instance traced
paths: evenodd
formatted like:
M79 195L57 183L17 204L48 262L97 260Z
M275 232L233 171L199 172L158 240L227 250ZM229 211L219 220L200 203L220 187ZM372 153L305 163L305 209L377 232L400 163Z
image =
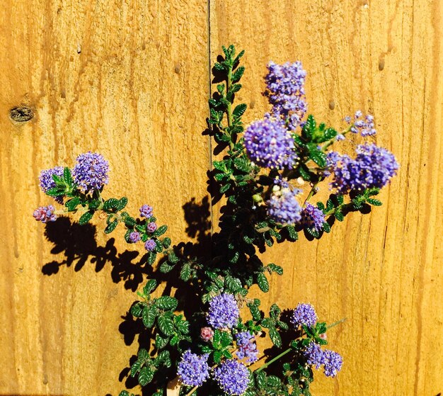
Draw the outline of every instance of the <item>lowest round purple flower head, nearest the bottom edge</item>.
M228 395L243 395L248 389L250 372L243 363L229 359L214 369L214 379Z

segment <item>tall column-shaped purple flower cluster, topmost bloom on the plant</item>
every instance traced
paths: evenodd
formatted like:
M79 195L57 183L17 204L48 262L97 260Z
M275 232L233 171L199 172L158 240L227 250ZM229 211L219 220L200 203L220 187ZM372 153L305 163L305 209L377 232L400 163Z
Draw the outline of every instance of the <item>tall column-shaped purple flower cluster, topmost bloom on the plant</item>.
M289 121L292 129L301 123L307 111L305 79L306 71L301 67L301 62L267 64L267 89L264 95L272 105L272 115L282 118L285 122Z

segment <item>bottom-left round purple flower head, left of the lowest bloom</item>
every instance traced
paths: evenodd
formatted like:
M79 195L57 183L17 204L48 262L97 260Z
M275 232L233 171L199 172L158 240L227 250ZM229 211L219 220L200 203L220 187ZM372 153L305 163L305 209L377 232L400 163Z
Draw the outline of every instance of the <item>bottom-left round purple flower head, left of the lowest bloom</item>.
M183 353L178 363L177 374L184 385L200 386L209 378L208 356L208 354L198 356L189 349Z

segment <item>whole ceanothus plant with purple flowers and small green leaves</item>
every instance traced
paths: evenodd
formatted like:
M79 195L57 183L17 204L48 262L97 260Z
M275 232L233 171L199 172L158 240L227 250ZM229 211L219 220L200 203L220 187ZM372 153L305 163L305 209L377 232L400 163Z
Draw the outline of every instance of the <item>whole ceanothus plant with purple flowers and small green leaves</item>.
M334 377L342 368L340 354L324 347L326 331L338 322L328 326L319 321L306 303L289 315L274 304L265 315L260 300L249 298L248 292L258 285L266 293L267 276L282 275L283 269L263 264L258 251L275 242L296 241L301 231L309 240L319 239L335 220L381 205L372 197L396 174L398 164L393 154L373 143L358 145L354 156L332 150L349 133L374 135L374 118L357 111L338 132L317 123L313 115L306 117L306 72L300 62L267 65L264 95L270 111L245 128L246 104L234 106L245 71L239 66L243 51L236 55L233 45L223 51L214 65L221 83L209 99L207 121L224 149L224 157L213 162L212 177L226 204L209 257L183 244L172 245L151 206L142 205L139 216L132 216L125 211L127 198L103 198L109 166L98 153L79 155L72 169L42 171L42 191L64 208L40 207L34 217L52 222L59 215L79 214L79 224L85 225L100 213L106 218L106 234L122 224L128 244L144 244L150 266L161 256L130 310L155 340L149 350L139 349L130 375L154 396L168 388L187 396L307 396L313 369ZM323 181L332 193L326 202L314 204ZM162 273L171 273L180 283L175 295L154 298ZM180 305L185 291L199 299L192 310ZM248 307L248 315L242 307ZM265 336L274 345L266 356L257 342ZM126 390L120 393L128 395Z

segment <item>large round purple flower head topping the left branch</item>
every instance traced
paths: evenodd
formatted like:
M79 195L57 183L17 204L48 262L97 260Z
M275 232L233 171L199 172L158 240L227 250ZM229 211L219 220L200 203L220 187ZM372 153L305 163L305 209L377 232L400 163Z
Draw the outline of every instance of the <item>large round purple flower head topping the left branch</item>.
M108 161L101 154L86 152L77 157L72 176L83 193L90 193L108 184L108 171Z

